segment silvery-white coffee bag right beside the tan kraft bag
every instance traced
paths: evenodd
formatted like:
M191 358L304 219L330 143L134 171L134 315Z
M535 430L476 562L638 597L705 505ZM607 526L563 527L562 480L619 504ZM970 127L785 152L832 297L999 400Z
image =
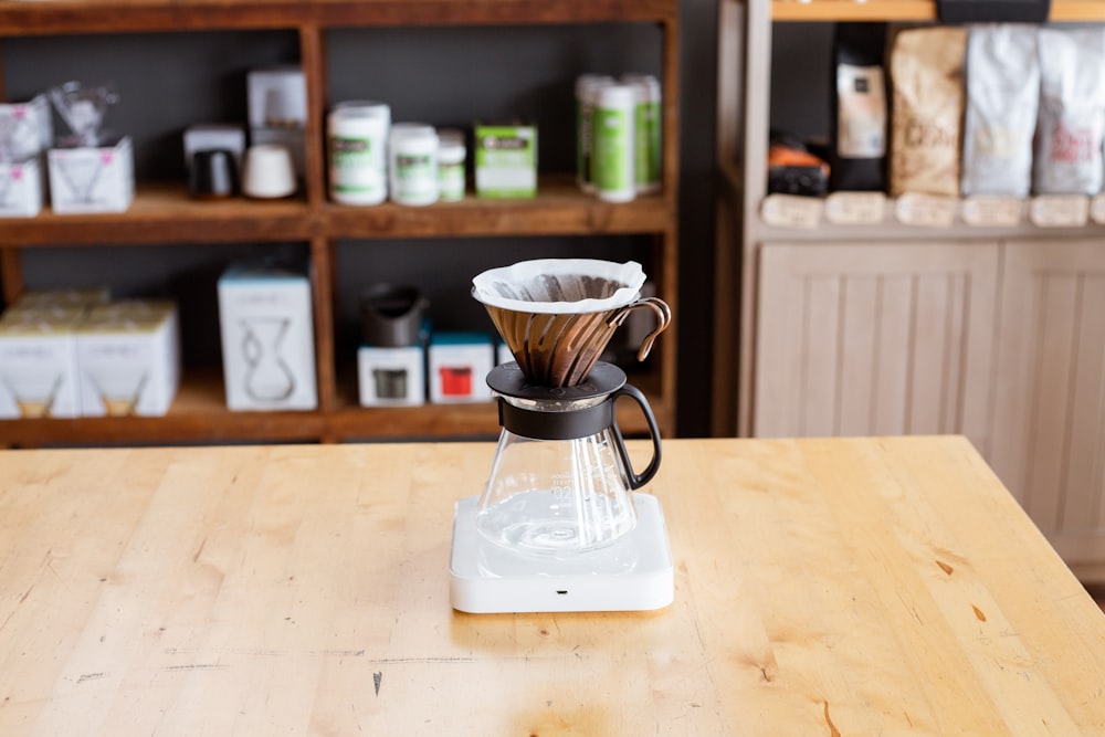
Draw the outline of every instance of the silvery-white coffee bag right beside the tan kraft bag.
M1027 197L1040 98L1036 29L1020 23L970 28L962 193Z

